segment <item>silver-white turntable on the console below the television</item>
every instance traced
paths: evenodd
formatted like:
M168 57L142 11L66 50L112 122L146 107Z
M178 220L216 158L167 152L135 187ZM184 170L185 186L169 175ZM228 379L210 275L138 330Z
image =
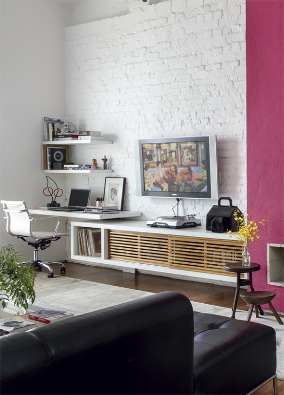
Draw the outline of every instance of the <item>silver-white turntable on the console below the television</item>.
M195 214L184 215L184 216L158 216L155 220L147 221L147 226L153 228L192 228L195 226L201 226L201 220L195 218Z

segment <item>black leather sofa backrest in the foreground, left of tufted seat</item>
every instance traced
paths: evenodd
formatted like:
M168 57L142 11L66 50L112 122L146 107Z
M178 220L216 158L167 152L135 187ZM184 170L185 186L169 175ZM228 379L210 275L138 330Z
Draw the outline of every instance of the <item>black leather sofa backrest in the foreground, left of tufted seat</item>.
M177 292L0 340L2 393L193 393L193 312ZM44 354L24 361L38 347Z

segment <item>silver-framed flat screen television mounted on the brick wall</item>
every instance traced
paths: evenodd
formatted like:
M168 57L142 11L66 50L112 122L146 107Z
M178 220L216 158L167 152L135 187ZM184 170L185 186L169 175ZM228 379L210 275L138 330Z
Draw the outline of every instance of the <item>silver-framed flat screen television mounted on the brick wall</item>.
M136 195L218 199L216 136L134 141Z

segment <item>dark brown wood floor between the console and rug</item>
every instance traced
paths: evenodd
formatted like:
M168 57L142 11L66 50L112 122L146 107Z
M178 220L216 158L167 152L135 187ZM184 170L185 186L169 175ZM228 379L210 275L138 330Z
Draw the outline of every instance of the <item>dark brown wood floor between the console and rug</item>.
M57 265L56 265L57 266ZM59 271L55 274L60 274ZM120 270L83 265L78 263L66 263L66 277L80 280L94 281L96 283L110 284L118 287L139 289L148 292L178 291L184 293L190 300L222 307L232 307L235 288L193 282L188 280L170 279L157 275L143 273L126 273ZM244 290L246 290L244 288ZM247 305L239 298L238 309L248 310ZM254 392L254 395L273 394L272 381ZM278 380L278 394L284 395L284 382Z

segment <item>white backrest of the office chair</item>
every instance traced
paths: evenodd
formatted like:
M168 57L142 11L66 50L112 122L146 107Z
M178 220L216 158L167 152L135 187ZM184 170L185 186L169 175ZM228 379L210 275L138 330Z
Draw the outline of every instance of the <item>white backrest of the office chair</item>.
M25 202L2 200L6 214L6 230L12 236L29 236L32 216Z

